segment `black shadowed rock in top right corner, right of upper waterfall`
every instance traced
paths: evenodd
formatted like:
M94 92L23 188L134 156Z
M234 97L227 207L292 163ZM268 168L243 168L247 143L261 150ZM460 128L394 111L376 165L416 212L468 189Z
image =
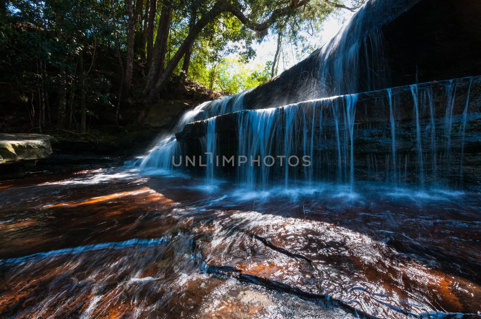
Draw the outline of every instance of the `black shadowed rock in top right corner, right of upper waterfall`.
M383 27L394 86L481 74L476 0L424 0Z

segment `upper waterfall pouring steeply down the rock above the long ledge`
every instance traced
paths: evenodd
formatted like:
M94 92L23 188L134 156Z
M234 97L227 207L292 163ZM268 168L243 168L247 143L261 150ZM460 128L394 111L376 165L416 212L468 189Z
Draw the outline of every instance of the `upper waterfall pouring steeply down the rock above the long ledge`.
M382 28L373 22L368 1L318 53L320 97L389 87L391 80Z

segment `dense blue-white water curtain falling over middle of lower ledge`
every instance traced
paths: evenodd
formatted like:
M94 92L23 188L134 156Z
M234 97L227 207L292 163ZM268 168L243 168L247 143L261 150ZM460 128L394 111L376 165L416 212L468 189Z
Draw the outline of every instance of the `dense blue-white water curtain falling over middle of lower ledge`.
M274 184L291 188L334 175L353 191L356 100L356 95L347 95L238 112L237 155L242 159L235 165L238 183L247 189ZM209 137L215 136L214 122L215 118L206 121L206 140L211 142L203 145L203 151L215 149L209 145L216 141ZM338 162L332 167L329 158L334 154ZM207 171L207 178L221 177Z

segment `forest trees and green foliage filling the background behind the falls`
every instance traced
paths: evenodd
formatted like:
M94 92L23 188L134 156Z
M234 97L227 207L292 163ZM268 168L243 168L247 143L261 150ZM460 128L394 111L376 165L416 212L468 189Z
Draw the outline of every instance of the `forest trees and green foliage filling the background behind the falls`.
M40 132L86 133L98 108L118 125L123 105L175 96L187 78L234 94L278 73L283 41L304 42L330 12L361 2L0 1L0 103L24 108ZM267 35L277 38L273 60L246 64Z

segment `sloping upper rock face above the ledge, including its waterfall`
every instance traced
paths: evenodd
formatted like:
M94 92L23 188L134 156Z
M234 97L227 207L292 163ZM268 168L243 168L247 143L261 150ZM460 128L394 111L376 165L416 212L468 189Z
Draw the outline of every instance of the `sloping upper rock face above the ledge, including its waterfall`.
M370 1L344 34L248 92L246 108L479 75L480 16L476 0Z

